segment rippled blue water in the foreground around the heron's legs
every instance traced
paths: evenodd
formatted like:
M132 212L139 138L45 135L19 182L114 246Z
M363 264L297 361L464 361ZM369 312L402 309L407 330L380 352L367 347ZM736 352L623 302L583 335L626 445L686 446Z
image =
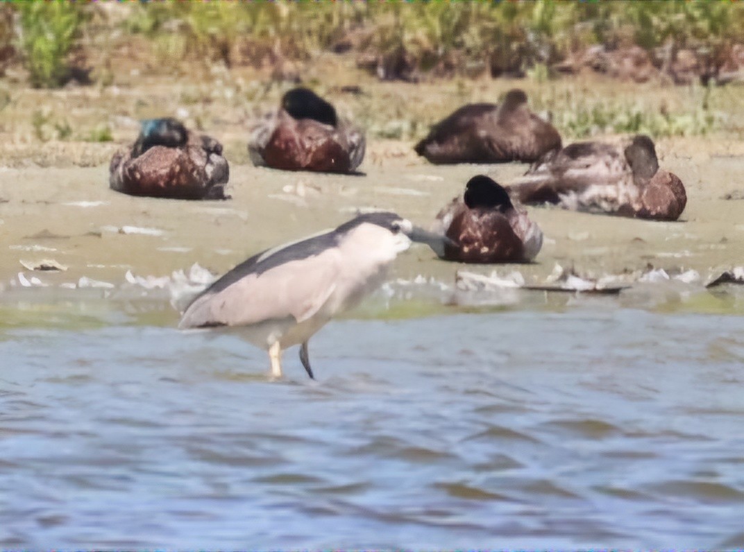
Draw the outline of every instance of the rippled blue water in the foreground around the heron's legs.
M743 316L344 319L312 382L165 310L11 311L3 548L744 546Z

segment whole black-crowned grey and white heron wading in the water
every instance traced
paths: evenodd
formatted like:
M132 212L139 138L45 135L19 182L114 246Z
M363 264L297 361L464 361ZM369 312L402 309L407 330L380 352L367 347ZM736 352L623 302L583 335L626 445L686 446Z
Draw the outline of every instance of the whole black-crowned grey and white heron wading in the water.
M275 377L282 373L282 350L301 344L300 360L312 378L310 337L378 288L411 240L440 252L446 238L393 212L371 212L263 251L196 296L179 328L242 327L249 342L269 351Z

